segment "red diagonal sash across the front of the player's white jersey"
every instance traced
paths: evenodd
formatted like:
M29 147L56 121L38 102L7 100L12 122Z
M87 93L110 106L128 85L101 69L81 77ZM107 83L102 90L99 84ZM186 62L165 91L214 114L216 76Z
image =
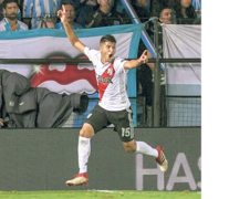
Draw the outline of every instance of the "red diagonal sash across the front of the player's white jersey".
M110 85L110 83L113 84L112 78L115 75L114 70L114 63L110 65L110 67L101 75L98 76L98 93L100 93L100 101L102 101L103 95Z

